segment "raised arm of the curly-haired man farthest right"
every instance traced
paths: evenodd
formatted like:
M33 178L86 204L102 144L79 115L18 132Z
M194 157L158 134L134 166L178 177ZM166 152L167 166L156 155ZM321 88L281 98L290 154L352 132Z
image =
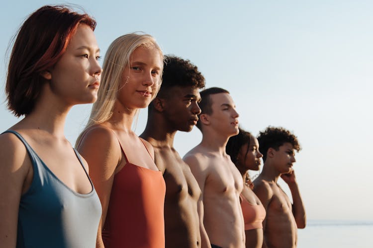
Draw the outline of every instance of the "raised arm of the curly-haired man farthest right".
M289 186L291 197L293 198L292 212L298 228L306 227L306 212L302 197L300 196L298 184L296 182L295 173L291 171L289 174L282 174L281 178Z

